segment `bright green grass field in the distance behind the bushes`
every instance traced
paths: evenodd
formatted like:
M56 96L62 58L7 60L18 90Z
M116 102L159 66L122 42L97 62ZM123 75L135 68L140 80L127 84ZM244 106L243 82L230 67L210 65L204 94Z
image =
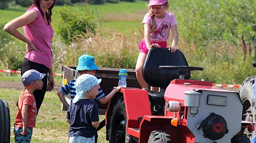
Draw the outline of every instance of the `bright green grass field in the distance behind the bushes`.
M74 7L82 9L85 4L74 4ZM98 18L96 13L98 11L98 17L103 28L114 28L120 31L128 32L132 29L137 29L141 26L140 22L143 16L147 12L147 7L144 1L138 0L136 2L119 2L117 4L103 4L103 5L88 5L93 11L95 17L94 21L97 23ZM55 6L52 10L52 27L57 29L60 16L56 13L59 6ZM96 11L97 9L97 11ZM0 9L0 23L7 23L12 19L19 17L26 11L26 8L21 6L14 6L7 10ZM120 17L126 19L120 21Z

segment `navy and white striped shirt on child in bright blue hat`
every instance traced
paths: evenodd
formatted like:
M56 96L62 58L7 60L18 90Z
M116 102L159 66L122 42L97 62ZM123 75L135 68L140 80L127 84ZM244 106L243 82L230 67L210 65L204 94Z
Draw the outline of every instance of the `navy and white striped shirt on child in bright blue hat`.
M74 97L76 96L76 80L70 80L66 85L62 86L60 88L61 93L63 93L63 95L67 95L70 93L70 98L71 101L74 99ZM105 96L105 94L103 93L103 91L101 90L101 88L99 87L99 92L98 95L96 96L95 100L99 100L102 97Z

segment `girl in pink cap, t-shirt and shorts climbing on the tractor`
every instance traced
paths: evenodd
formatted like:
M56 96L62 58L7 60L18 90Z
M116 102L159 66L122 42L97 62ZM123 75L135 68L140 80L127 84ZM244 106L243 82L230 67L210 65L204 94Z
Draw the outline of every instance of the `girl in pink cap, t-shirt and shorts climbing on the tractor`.
M173 13L166 12L169 8L167 0L150 0L149 13L142 21L144 25L144 39L139 43L139 57L135 67L136 76L142 88L148 89L148 84L142 77L142 67L148 50L152 47L168 48L174 53L178 43L177 21ZM172 44L167 46L170 29L172 33ZM151 90L158 90L157 87L151 87Z

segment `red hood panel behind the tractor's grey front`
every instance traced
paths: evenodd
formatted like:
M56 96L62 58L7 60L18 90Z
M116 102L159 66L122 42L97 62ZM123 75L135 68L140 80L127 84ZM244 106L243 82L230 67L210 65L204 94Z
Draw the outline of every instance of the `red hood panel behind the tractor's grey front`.
M184 85L184 83L191 83L191 85ZM222 88L217 88L212 86L212 82L208 81L197 81L197 80L172 80L169 86L165 90L165 100L166 101L179 101L184 105L184 91L191 91L192 88L195 91L198 90L210 90L219 92L234 92L225 90ZM235 92L234 92L235 93Z

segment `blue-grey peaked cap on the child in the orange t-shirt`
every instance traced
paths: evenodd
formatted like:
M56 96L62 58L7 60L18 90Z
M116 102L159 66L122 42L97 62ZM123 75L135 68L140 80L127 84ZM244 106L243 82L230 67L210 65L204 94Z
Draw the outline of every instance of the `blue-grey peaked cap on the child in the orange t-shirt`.
M46 74L41 74L40 72L36 71L35 69L30 69L22 75L22 78L21 78L22 84L24 86L28 86L32 82L42 79L44 76L46 76Z

